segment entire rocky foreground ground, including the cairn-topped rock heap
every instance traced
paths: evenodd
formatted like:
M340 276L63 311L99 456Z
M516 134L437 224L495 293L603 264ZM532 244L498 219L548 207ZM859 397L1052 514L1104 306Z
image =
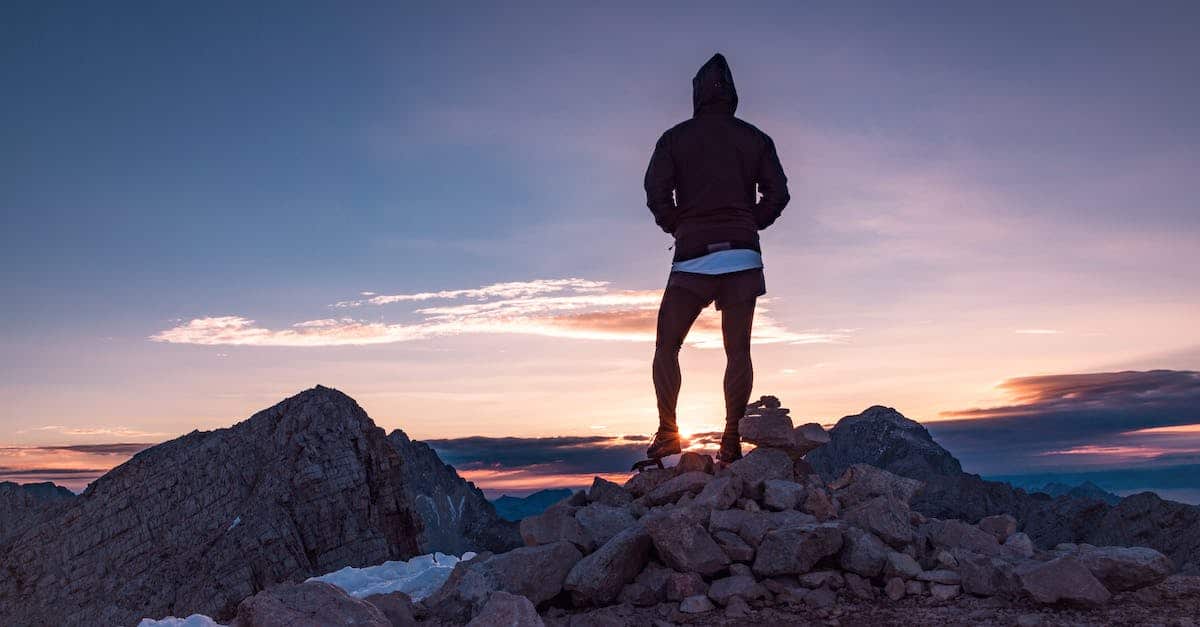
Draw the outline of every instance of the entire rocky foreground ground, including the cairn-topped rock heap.
M922 482L865 464L827 482L804 458L829 436L773 398L740 429L757 447L744 459L596 478L522 520L524 547L460 562L420 603L288 585L244 601L234 623L1186 626L1200 613L1200 579L1171 577L1153 549L1043 550L1010 515L930 518L910 508Z

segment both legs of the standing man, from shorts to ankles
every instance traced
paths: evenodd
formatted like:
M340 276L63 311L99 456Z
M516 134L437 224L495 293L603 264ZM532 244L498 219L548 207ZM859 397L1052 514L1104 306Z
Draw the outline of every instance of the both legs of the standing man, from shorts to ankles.
M721 336L725 340L725 423L737 429L745 414L754 386L750 363L750 327L757 299L721 305ZM659 400L659 429L678 430L676 405L679 401L679 348L696 317L712 299L704 299L683 287L668 286L659 306L658 339L654 344L654 394Z

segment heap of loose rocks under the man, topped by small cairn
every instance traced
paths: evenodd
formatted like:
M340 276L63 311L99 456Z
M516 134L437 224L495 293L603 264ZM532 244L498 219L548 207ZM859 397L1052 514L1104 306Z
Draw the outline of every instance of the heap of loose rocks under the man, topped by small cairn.
M908 507L920 482L874 466L826 484L804 460L828 441L824 430L793 426L770 396L748 408L740 429L757 447L727 467L685 453L624 485L596 478L523 520L526 547L461 562L418 614L487 625L493 610L524 607L512 596L556 611L671 604L731 617L764 605L827 608L840 595L1094 605L1172 571L1145 548L1037 551L1008 515L974 525L928 519ZM498 592L509 595L493 601Z

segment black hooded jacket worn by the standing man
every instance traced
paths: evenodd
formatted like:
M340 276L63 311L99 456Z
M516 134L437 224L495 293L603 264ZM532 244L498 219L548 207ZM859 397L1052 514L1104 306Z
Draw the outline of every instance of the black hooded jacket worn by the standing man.
M691 79L694 115L662 133L646 168L646 205L676 239L674 261L710 250L758 250L758 231L787 205L787 177L775 143L733 117L738 92L725 56ZM756 202L756 189L762 199ZM710 249L709 246L715 246Z

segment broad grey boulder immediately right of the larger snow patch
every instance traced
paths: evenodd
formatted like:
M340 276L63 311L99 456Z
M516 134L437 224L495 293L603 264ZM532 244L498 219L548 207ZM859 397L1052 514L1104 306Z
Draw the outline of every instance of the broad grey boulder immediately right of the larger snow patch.
M565 541L480 555L456 563L446 583L424 605L449 622L469 621L497 590L538 605L563 591L568 573L582 557L578 548Z

